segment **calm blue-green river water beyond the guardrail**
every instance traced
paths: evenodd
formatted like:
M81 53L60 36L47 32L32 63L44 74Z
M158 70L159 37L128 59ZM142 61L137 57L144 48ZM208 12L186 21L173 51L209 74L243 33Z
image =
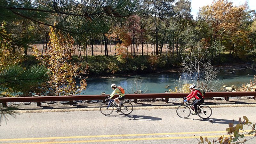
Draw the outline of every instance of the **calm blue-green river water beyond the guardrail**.
M250 83L250 80L253 80L254 75L256 75L256 71L253 69L235 70L235 73L218 73L218 79L222 80L222 83L227 86L241 86L243 83ZM112 89L110 85L113 83L116 85L121 85L124 88L125 93L133 93L136 91L136 84L133 84L135 78L140 78L142 80L143 84L138 84L138 87L142 85L142 87L139 89L142 90L142 93L164 93L165 91L168 91L169 88L174 89L178 77L178 73L167 73L114 78L88 78L87 89L82 91L80 94L91 95L100 94L101 92L111 94ZM167 88L168 85L169 87Z

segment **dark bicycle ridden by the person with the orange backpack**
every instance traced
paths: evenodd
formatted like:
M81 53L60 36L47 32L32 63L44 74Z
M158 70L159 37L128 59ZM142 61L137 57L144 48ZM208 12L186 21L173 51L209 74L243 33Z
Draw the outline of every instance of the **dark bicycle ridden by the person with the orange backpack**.
M123 105L119 108L117 104L113 103L114 100L108 99L108 97L105 97L105 100L106 102L100 106L100 112L105 116L112 114L114 107L116 112L120 111L124 115L129 115L133 111L133 106L130 102L123 102Z

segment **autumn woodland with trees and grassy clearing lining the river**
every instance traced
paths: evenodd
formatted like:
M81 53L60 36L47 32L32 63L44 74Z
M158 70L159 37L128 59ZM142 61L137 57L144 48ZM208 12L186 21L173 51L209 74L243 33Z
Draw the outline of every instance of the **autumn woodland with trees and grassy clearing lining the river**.
M0 2L2 96L77 94L87 76L174 68L198 85L212 64L255 63L256 13L246 3L215 0L194 19L191 0Z

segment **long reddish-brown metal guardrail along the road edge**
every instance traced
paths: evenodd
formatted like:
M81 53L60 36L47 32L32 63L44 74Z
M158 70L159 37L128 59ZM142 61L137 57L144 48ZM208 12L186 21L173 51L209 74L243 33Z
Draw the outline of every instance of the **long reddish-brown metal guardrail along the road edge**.
M134 103L137 103L137 99L156 99L164 98L167 103L169 98L183 98L188 96L189 93L144 93L144 94L125 94L125 99L134 99ZM3 103L4 107L7 107L7 102L37 102L37 106L41 106L41 102L44 101L69 101L70 105L73 105L74 100L103 100L105 96L109 95L71 95L71 96L34 96L34 97L1 97L0 103ZM228 97L244 97L253 96L256 97L255 92L207 92L205 98L209 97L225 97L228 101ZM118 97L115 95L113 98Z

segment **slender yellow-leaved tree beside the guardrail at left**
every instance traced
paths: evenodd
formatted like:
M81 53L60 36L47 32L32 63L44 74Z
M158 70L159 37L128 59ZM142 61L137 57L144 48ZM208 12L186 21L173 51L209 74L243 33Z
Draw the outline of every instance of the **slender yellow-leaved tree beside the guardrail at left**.
M51 28L49 32L49 51L44 53L43 58L40 52L34 49L34 54L50 70L50 84L56 95L76 94L86 89L87 83L81 74L86 74L87 68L80 69L80 63L71 63L71 53L74 51L74 40L71 36L63 36L59 31ZM76 78L82 78L81 86L76 85Z

